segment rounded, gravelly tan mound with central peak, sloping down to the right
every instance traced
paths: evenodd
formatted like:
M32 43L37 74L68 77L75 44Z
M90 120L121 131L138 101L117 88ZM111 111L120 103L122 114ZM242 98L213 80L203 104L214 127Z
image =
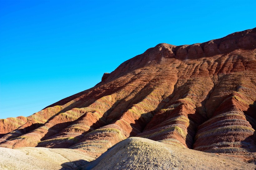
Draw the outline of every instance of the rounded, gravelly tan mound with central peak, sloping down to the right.
M150 139L131 137L121 141L84 170L107 169L254 169L256 165L240 158L179 148Z

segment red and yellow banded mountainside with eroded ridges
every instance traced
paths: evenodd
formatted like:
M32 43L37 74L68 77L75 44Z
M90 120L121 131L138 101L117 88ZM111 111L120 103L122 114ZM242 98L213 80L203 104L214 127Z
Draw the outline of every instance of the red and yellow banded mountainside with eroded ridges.
M129 138L198 151L256 152L256 28L193 45L159 44L95 87L29 117L0 120L0 147L78 149Z

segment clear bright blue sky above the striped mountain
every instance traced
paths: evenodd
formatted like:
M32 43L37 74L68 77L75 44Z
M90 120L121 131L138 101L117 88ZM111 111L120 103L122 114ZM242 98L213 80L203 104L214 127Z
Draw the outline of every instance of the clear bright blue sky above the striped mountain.
M0 119L29 116L93 87L159 43L256 26L256 1L0 0Z

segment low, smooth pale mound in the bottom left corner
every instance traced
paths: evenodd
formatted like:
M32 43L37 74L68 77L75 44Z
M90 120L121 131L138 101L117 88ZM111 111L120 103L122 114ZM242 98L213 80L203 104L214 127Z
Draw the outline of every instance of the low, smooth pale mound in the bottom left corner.
M0 148L0 169L5 170L71 170L92 160L74 149Z

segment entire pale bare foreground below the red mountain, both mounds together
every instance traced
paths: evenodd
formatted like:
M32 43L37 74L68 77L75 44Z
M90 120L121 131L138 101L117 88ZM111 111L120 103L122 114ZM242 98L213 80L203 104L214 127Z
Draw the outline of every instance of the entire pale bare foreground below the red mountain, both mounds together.
M255 169L241 158L180 148L150 139L125 139L94 160L75 149L0 148L4 170Z

